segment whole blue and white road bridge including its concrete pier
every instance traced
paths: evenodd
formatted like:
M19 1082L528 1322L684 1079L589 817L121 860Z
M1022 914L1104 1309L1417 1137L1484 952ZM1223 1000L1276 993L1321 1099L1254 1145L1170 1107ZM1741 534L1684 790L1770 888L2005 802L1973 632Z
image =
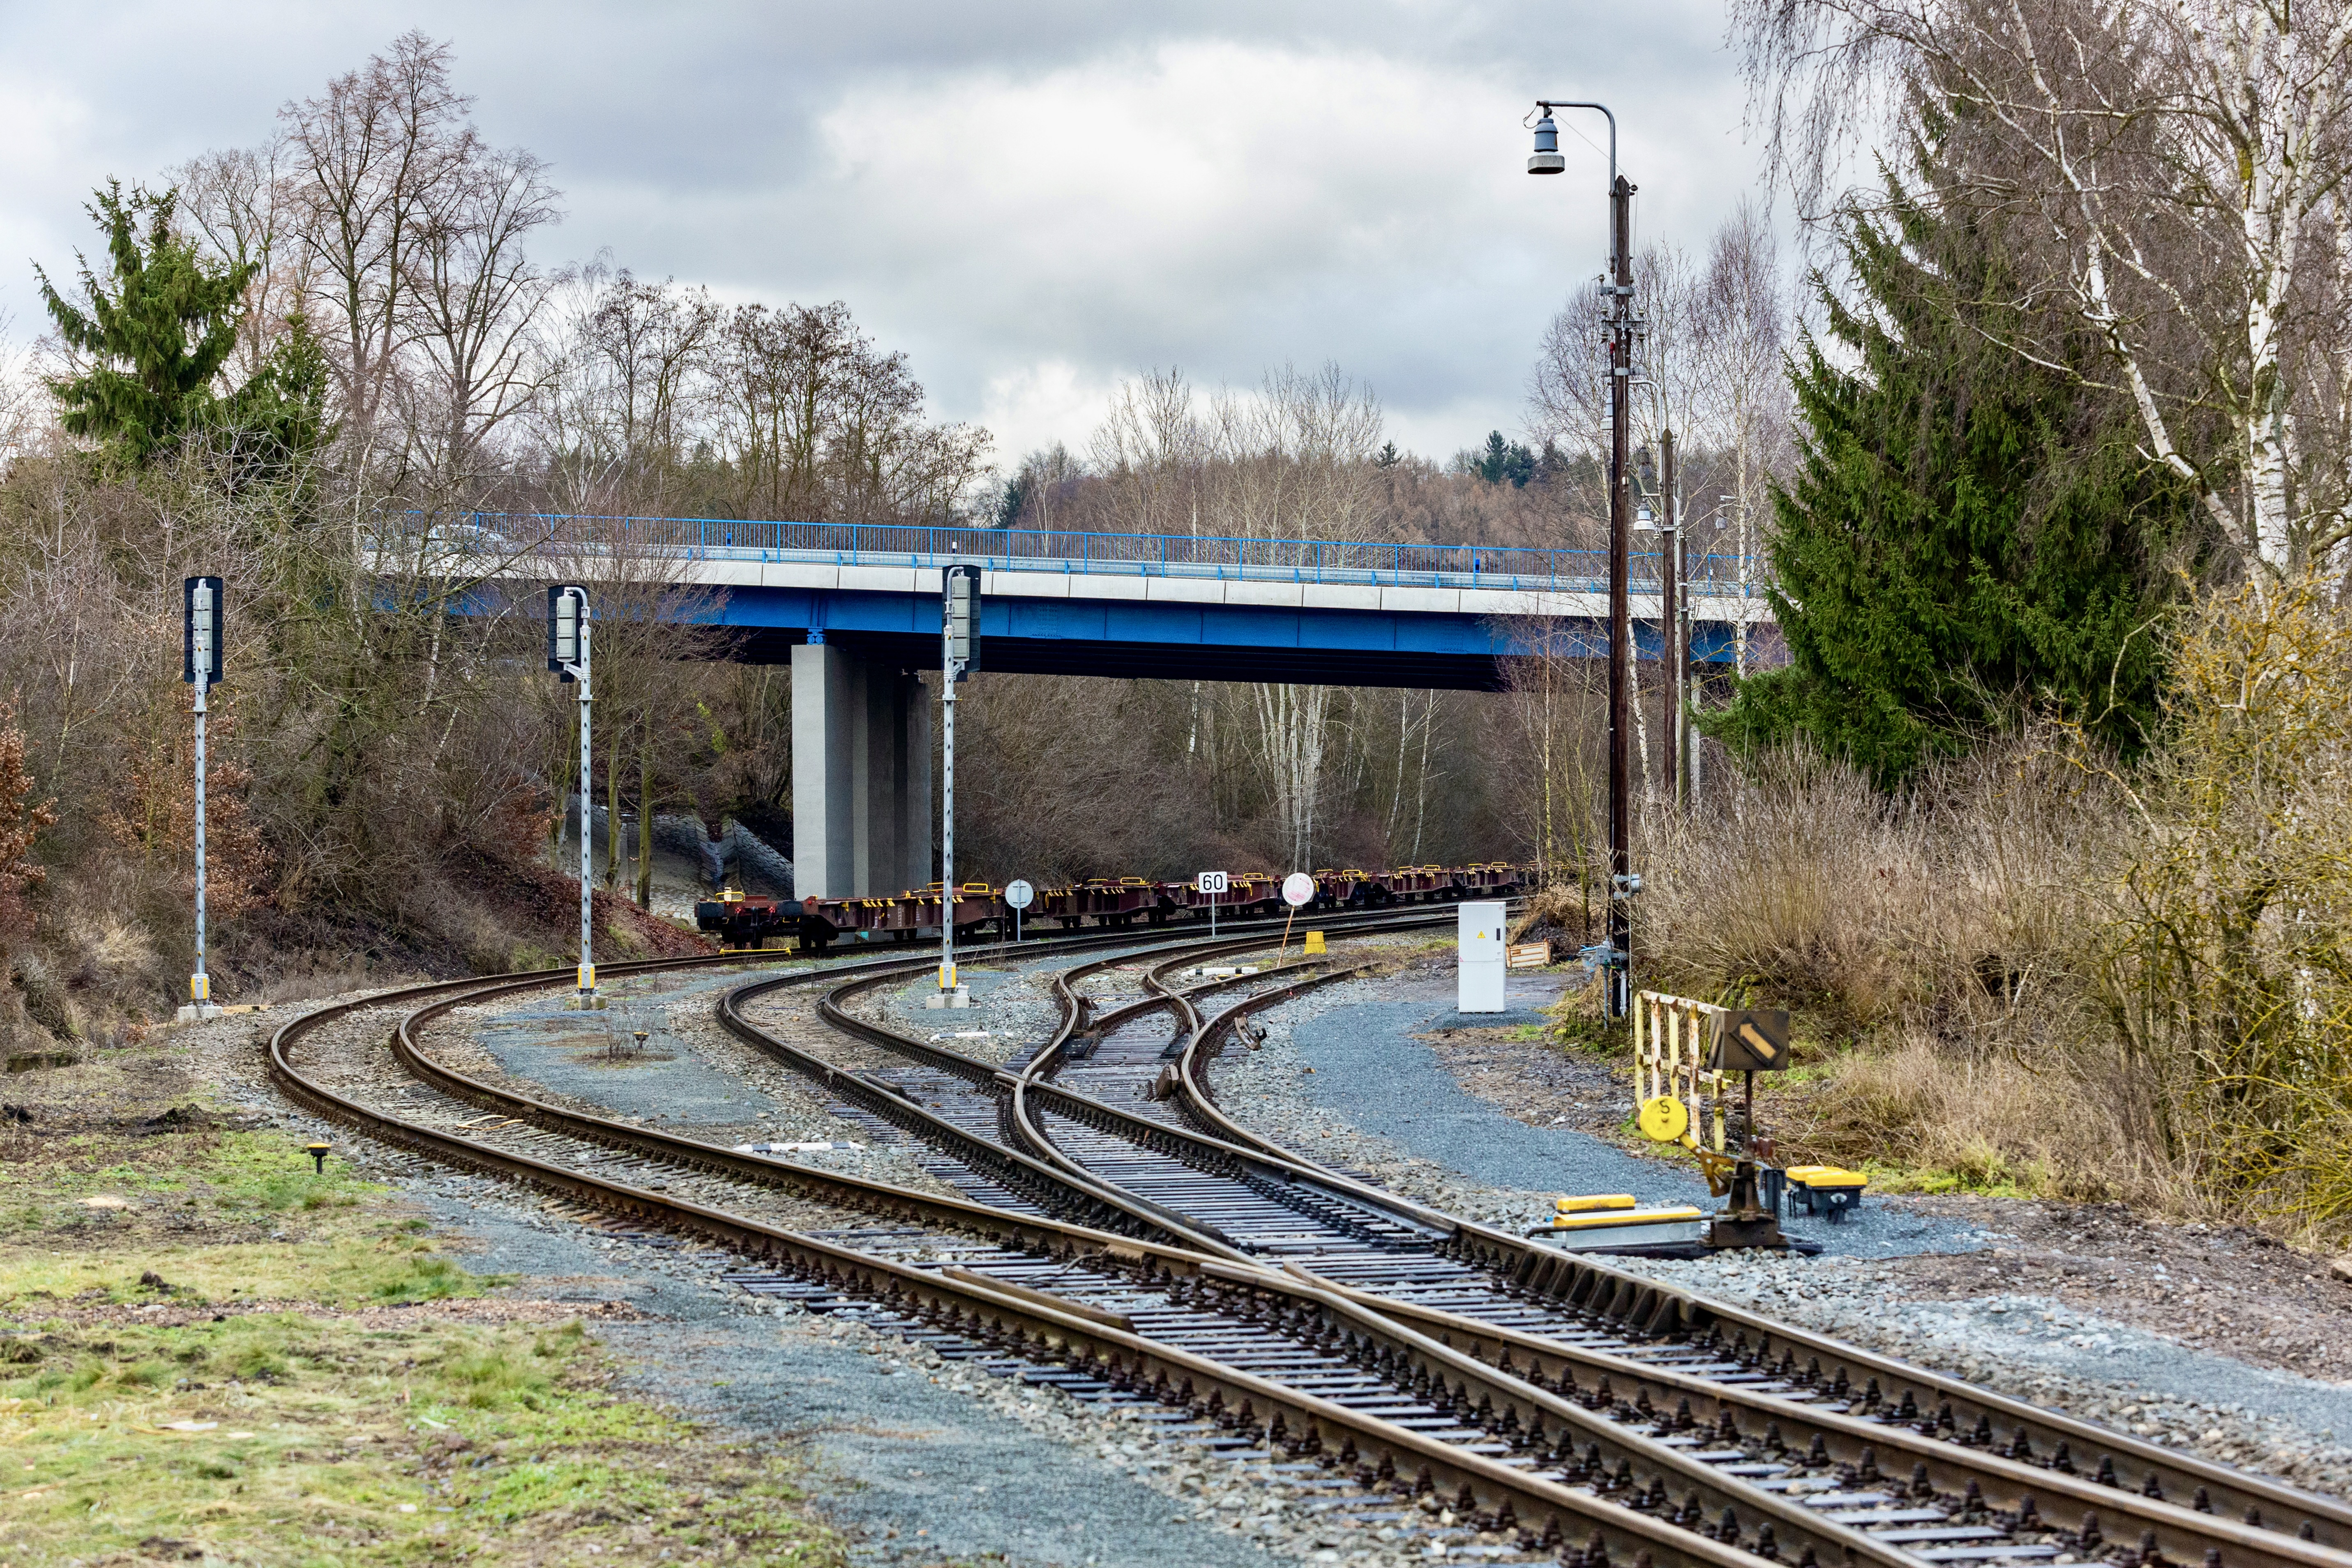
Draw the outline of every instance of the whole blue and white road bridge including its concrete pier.
M553 517L414 520L383 555L463 555L494 578L630 578L724 628L729 658L793 668L795 893L851 898L931 879L931 712L941 574L981 567L981 668L1498 691L1508 661L1609 646L1597 550L1378 545L1061 529ZM1738 562L1693 562L1691 651L1733 630L1778 644ZM1658 557L1635 557L1639 658L1658 656ZM818 830L821 825L821 830Z

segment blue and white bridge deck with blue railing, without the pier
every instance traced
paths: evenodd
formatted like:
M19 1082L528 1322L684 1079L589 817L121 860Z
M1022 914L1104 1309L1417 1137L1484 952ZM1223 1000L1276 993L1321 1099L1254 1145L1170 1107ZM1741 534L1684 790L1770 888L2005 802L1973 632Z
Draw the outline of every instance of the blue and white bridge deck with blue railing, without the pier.
M470 531L477 557L510 562L501 576L612 552L633 576L724 590L682 614L734 630L748 663L837 646L936 670L941 569L955 564L981 567L985 668L1021 675L1498 691L1505 658L1545 642L1597 658L1609 632L1597 550L515 512L435 531ZM1656 569L1635 555L1642 658L1658 651ZM1693 562L1691 578L1696 661L1729 665L1738 621L1776 642L1733 557Z

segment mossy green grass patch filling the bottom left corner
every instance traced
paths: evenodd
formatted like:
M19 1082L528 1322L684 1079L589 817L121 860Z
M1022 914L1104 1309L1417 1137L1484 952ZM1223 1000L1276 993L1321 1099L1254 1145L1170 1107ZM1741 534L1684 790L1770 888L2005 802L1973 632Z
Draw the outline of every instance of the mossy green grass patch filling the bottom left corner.
M607 1375L579 1324L240 1314L14 1333L0 1561L840 1561L790 1458L614 1399Z

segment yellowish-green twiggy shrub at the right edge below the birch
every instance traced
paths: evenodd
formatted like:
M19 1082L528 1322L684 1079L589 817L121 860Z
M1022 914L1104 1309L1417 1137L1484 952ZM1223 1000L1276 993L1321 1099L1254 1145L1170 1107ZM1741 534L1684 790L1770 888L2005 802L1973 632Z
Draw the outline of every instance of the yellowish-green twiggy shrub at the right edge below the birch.
M2110 844L2096 994L2138 1143L2206 1204L2352 1225L2352 618L2317 581L2176 635L2166 743Z

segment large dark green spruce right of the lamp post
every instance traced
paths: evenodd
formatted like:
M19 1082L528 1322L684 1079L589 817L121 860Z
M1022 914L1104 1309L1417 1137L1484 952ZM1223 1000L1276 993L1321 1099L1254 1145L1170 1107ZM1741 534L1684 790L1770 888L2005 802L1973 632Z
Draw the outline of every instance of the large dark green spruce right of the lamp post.
M2034 708L2131 752L2194 496L2093 386L2096 343L2058 341L2056 367L2016 350L2037 322L2002 303L2018 289L1994 235L1889 195L1844 219L1853 301L1816 280L1842 353L1806 336L1790 371L1799 465L1771 541L1790 663L1703 729L1736 750L1806 736L1879 788Z

